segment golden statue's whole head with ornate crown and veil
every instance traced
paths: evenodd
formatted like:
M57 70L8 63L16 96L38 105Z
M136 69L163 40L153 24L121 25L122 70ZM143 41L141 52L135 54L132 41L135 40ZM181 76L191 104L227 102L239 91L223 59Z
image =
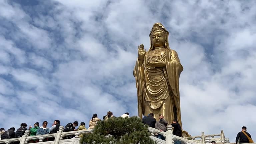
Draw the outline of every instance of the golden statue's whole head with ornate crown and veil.
M150 31L151 47L165 47L168 45L168 31L161 23L155 23Z

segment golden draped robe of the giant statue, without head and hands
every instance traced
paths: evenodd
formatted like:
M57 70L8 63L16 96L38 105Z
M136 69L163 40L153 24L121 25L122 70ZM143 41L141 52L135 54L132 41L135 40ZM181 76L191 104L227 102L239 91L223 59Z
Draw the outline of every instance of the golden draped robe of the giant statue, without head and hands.
M166 66L154 68L148 64L148 61L152 61L152 52L157 53L157 50L148 51L144 60L137 59L133 72L138 95L138 114L142 118L142 115L154 113L156 120L159 119L158 114L163 114L168 124L177 119L182 127L179 77L183 67L178 54L166 48L157 57L165 61Z

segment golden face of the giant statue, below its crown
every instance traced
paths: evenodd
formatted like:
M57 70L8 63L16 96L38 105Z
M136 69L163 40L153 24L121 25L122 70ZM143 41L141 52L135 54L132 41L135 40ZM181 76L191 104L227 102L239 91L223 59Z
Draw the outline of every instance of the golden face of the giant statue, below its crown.
M159 31L151 34L151 42L154 47L162 47L166 42L165 33Z

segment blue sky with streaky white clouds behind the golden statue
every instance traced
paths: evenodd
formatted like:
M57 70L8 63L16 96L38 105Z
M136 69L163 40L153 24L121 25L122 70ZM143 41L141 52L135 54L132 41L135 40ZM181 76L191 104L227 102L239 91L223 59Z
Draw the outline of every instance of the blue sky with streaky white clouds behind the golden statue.
M0 0L0 127L137 115L133 68L155 22L184 67L184 130L256 139L254 0Z

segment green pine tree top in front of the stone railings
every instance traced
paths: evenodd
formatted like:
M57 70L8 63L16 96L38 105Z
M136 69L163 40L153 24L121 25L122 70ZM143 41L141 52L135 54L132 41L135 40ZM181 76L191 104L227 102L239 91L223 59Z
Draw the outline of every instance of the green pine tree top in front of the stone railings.
M93 133L85 133L80 144L155 144L140 118L118 117L99 121Z

